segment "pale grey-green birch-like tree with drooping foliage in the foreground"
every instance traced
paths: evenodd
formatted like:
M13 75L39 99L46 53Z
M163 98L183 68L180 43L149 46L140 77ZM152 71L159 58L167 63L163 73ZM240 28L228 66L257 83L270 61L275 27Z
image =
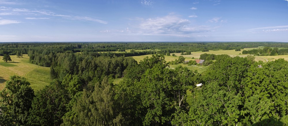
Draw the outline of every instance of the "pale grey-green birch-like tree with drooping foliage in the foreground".
M114 101L113 84L105 77L95 83L94 91L84 90L82 97L74 104L71 117L63 117L62 125L123 125Z

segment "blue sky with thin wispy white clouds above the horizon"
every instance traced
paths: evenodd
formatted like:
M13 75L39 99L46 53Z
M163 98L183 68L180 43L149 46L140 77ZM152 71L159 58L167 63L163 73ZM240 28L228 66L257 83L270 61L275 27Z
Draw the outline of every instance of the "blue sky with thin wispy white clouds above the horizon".
M0 42L288 42L287 0L0 0Z

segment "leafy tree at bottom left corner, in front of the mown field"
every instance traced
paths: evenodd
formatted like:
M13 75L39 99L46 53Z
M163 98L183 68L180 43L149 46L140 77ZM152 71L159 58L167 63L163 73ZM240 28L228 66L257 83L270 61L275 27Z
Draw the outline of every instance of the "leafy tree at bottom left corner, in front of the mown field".
M0 93L0 124L27 125L34 90L24 77L11 76Z

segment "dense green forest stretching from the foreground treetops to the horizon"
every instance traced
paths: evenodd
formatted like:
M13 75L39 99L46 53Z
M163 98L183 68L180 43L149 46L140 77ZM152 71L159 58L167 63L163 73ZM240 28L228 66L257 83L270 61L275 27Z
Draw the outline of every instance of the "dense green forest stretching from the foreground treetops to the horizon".
M0 125L288 125L288 61L202 54L208 69L198 73L170 68L164 57L259 46L245 53L288 54L288 43L276 42L0 43L1 55L28 54L53 79L34 91L11 76L0 92Z

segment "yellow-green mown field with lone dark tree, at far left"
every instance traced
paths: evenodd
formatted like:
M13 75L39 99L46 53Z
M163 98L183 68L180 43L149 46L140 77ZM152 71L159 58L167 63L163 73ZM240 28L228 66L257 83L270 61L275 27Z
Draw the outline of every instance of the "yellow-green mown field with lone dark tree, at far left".
M31 64L27 55L23 55L23 58L10 57L12 62L0 61L0 90L5 87L5 82L12 75L25 77L35 91L43 89L52 81L49 67L38 67L38 65ZM0 59L2 58L3 56L0 56Z

